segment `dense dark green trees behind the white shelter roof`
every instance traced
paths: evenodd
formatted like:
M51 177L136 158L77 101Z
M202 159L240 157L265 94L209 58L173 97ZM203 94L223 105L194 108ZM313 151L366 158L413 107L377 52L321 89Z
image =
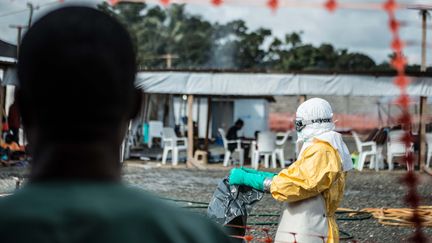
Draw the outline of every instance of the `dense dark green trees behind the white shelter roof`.
M129 29L141 68L265 69L271 71L386 71L362 53L336 49L331 44L303 43L299 33L284 39L271 30L250 30L243 20L210 23L185 11L184 5L149 7L145 3L107 3L100 8ZM417 67L411 67L417 69Z

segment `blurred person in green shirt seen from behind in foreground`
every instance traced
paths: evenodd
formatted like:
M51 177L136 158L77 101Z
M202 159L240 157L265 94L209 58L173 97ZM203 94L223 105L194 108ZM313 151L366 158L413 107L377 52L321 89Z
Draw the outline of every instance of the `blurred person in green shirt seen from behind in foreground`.
M135 74L127 31L95 9L55 10L29 29L17 99L33 163L0 200L1 242L227 242L207 219L121 183Z

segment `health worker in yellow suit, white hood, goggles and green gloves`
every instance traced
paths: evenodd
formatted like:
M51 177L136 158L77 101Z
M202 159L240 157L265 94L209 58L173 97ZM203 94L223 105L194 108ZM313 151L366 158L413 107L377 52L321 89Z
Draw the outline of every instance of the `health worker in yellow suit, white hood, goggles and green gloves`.
M270 192L285 203L275 242L339 242L335 211L353 165L342 136L334 132L330 104L307 100L296 112L296 130L303 147L299 158L274 175L247 168L232 169L230 184Z

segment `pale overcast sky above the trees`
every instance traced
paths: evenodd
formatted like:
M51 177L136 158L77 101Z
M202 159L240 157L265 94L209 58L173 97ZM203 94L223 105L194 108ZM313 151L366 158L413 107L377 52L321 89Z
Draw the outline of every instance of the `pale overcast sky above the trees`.
M85 2L99 2L88 0ZM262 0L264 3L267 0ZM308 0L304 0L308 1ZM311 0L309 0L310 2ZM384 0L345 0L344 2L383 2ZM15 11L25 10L28 0L0 0L0 39L11 43L16 42L16 31L9 28L11 24L25 24L28 21L28 11L3 16ZM35 5L52 3L53 0L32 0ZM77 2L75 0L65 0ZM80 1L83 2L83 1ZM210 2L210 0L203 0ZM247 0L245 0L247 2ZM315 1L316 2L316 1ZM320 1L318 1L320 2ZM428 0L412 0L410 3L428 3ZM430 2L430 1L429 1ZM51 7L61 6L54 1L49 6L43 6L36 11L40 15ZM250 29L259 27L270 28L273 34L283 37L292 31L304 31L303 41L320 44L331 43L336 48L347 48L368 54L377 62L387 60L391 53L389 43L391 35L387 27L387 15L383 11L345 10L339 9L329 13L321 9L281 8L276 12L265 7L229 6L214 7L210 4L188 5L187 11L202 15L212 22L225 23L234 19L243 19ZM420 62L421 22L416 11L400 10L397 13L400 20L408 23L402 28L401 35L414 45L406 48L406 55L411 64ZM432 25L431 25L432 26ZM428 35L428 65L432 65L432 29Z

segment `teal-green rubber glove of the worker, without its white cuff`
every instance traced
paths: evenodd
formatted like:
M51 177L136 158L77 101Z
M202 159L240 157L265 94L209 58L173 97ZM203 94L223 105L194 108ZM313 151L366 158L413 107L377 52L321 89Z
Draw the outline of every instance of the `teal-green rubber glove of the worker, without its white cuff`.
M240 168L234 168L230 172L230 185L245 185L264 191L264 180L267 177L261 174L248 173Z

